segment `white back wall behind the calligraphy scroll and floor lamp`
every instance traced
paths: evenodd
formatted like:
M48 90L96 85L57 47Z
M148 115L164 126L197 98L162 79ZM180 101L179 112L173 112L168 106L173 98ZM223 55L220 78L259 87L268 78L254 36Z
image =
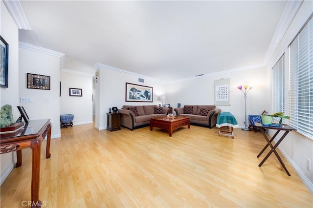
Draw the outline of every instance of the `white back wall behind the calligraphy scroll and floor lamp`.
M268 86L266 67L259 67L236 72L225 72L220 75L199 77L179 83L167 85L166 100L174 108L180 103L184 104L212 104L214 105L214 83L216 80L229 78L229 103L230 105L216 105L222 111L234 115L238 125L244 127L245 98L237 86L251 85L246 99L246 114L261 114L264 109L270 110L268 104ZM261 95L261 96L260 96ZM247 125L249 124L248 118Z

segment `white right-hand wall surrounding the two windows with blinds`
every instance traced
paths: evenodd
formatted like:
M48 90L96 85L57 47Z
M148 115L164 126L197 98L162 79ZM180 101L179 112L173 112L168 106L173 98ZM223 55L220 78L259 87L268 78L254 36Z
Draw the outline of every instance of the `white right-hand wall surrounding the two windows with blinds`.
M271 68L278 61L281 55L285 52L285 114L288 115L288 80L289 80L289 63L288 63L288 45L293 38L299 32L304 23L308 20L313 13L313 1L304 1L291 22L290 27L285 33L282 41L278 45L274 55L272 56L268 64L268 76L271 80ZM268 82L271 88L271 82ZM270 92L271 93L271 92ZM271 100L268 100L271 102ZM287 121L288 122L288 121ZM273 131L270 131L270 135L273 135ZM281 136L281 134L279 134ZM292 131L278 146L284 156L289 160L291 165L295 168L298 175L305 182L311 193L313 193L313 169L307 169L307 158L311 160L311 167L313 167L313 140L309 139L296 131Z

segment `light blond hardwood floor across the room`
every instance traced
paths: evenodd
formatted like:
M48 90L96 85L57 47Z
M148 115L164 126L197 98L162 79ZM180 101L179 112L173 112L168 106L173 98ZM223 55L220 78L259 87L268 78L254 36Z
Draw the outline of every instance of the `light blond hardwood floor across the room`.
M53 127L53 126L52 126ZM216 127L175 130L143 127L96 130L93 125L61 129L42 146L40 199L49 208L250 207L312 208L313 196L282 156L288 176L260 132L234 129L235 139ZM1 186L1 207L30 199L31 150Z

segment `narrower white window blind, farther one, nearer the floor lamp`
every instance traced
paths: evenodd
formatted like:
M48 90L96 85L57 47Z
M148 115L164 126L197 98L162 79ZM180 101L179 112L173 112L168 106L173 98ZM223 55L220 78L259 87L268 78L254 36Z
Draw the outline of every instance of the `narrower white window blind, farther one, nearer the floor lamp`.
M272 68L272 113L285 112L285 54Z

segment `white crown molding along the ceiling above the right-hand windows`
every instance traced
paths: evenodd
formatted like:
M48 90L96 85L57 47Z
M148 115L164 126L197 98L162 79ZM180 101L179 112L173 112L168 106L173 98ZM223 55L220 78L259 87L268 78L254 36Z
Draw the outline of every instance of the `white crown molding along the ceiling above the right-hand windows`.
M282 41L287 29L289 28L302 3L303 0L287 1L286 7L283 11L280 21L278 22L273 38L268 46L267 53L263 60L264 64L267 65L269 60L273 56L275 50L277 49L279 43Z

